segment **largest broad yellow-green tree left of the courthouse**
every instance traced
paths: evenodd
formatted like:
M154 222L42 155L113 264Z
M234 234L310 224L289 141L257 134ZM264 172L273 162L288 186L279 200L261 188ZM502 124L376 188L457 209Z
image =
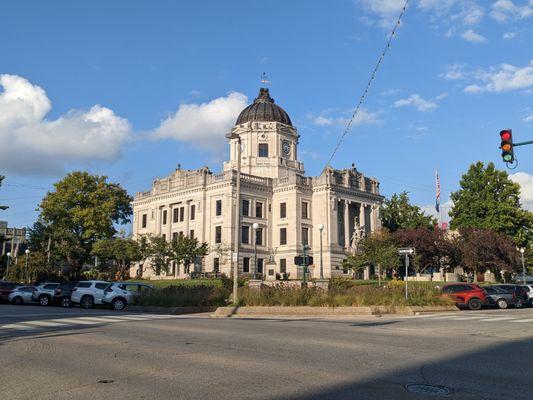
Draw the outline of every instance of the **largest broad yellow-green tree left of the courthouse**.
M130 221L131 200L119 184L86 172L69 173L46 194L39 222L52 237L54 253L68 263L71 276L79 276L96 241L113 237L115 224Z

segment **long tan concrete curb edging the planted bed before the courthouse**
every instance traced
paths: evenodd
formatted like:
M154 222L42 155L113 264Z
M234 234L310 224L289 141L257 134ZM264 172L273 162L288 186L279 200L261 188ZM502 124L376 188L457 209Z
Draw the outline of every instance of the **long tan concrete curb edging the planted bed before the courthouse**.
M335 317L335 316L361 316L361 315L420 315L435 312L459 311L452 306L419 306L419 307L283 307L283 306L244 306L244 307L218 307L211 314L213 318L229 317L272 317L272 316L298 316L298 317Z

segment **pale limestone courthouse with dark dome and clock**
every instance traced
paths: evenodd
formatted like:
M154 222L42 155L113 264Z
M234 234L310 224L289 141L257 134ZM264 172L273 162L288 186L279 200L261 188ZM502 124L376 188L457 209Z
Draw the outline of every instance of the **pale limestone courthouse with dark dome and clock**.
M319 276L320 238L324 276L346 273L342 260L357 240L380 227L379 182L352 164L326 168L319 176L305 175L298 160L298 134L289 115L261 88L232 128L230 159L223 171L208 167L176 169L156 179L150 191L133 202L133 235L179 234L207 242L210 253L191 270L231 275L235 229L239 229L239 273L261 272L267 278L288 274L301 279L294 257L313 256L310 275ZM241 142L241 218L236 223L238 138ZM256 229L254 229L254 224ZM323 230L319 230L323 225ZM254 242L256 245L254 245ZM257 254L257 257L255 257ZM186 277L184 266L171 265L168 274L146 268L151 279ZM136 271L132 269L132 275Z

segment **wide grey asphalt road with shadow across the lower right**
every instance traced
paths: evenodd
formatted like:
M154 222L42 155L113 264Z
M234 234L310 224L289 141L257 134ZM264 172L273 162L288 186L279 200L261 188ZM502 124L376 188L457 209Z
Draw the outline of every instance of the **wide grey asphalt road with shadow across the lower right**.
M0 398L533 399L532 339L533 309L342 320L0 305Z

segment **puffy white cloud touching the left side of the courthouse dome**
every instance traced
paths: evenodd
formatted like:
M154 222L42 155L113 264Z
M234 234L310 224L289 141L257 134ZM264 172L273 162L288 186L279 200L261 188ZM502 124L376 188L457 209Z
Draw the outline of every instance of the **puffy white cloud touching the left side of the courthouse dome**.
M187 142L203 150L220 150L227 143L226 133L247 102L244 94L232 92L208 103L181 104L174 114L161 122L152 136Z

